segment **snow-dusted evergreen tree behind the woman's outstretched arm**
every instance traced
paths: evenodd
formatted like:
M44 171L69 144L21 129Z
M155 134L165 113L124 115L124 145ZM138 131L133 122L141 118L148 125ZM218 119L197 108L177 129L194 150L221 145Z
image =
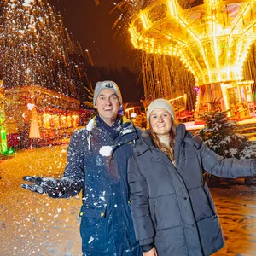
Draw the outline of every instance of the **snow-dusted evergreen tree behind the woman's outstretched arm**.
M207 147L225 158L255 157L248 147L247 137L236 134L237 125L235 121L230 121L227 115L229 110L220 110L220 98L207 103L211 105L211 110L201 114L206 125L198 131Z

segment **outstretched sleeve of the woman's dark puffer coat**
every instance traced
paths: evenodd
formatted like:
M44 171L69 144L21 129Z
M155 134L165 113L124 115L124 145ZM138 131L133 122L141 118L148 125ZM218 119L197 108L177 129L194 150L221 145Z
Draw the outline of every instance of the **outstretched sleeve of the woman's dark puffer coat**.
M208 148L199 137L196 137L195 148L200 149L202 167L217 177L247 177L256 174L256 160L223 158Z

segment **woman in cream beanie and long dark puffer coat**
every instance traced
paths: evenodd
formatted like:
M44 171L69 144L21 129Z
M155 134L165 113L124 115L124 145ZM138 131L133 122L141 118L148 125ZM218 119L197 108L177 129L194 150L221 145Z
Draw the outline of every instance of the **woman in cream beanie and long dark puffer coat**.
M177 125L172 106L149 105L129 162L131 213L144 256L210 255L224 247L212 196L202 171L218 177L255 174L255 160L223 159Z

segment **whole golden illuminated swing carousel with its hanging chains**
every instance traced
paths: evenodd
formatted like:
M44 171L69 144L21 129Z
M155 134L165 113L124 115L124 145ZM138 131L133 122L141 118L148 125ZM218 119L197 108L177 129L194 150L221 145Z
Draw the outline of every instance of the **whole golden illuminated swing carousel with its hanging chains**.
M195 113L208 110L207 102L220 97L221 109L230 109L231 115L242 118L253 112L253 81L243 78L243 65L256 38L256 1L234 2L157 0L134 16L131 41L143 52L146 100L186 97L182 81L173 85L175 80L169 79L172 70L165 58L171 56L195 78ZM148 56L159 62L157 68L148 65Z

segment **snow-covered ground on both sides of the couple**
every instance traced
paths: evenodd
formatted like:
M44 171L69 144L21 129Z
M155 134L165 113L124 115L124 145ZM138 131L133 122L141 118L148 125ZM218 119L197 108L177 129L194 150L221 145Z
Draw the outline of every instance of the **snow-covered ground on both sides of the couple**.
M24 175L61 177L66 149L34 148L0 161L0 255L82 254L80 197L51 199L20 188ZM214 256L256 255L256 187L211 190L226 240Z

